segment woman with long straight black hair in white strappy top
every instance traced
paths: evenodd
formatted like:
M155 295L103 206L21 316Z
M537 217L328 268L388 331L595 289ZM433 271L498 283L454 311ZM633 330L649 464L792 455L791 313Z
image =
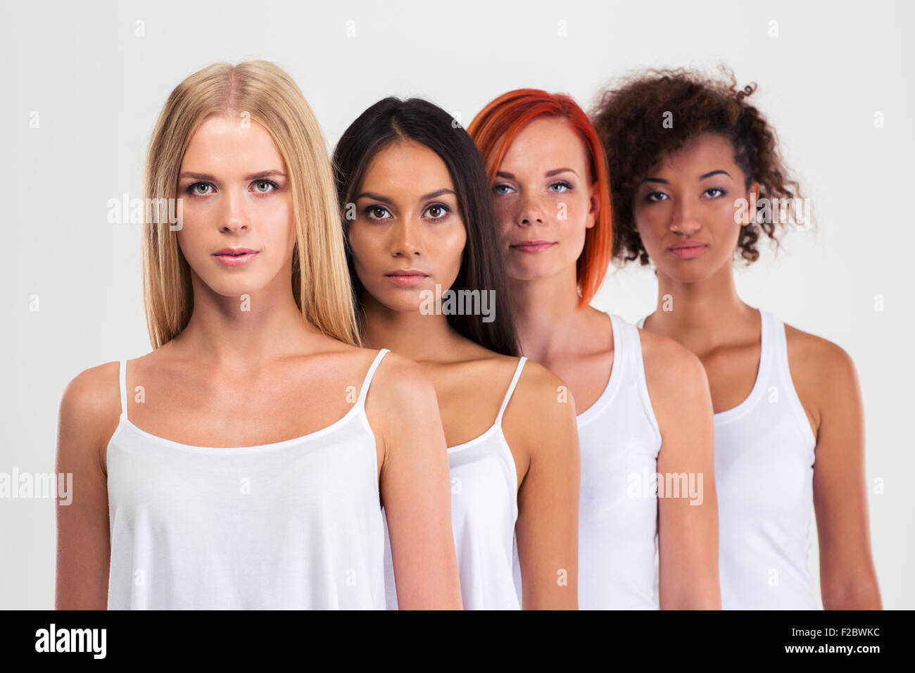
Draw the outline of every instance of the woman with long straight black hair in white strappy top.
M386 98L350 125L333 164L362 340L421 364L436 389L464 607L520 607L516 534L524 607L576 608L575 404L518 357L476 147L436 105ZM390 560L426 562L396 549Z

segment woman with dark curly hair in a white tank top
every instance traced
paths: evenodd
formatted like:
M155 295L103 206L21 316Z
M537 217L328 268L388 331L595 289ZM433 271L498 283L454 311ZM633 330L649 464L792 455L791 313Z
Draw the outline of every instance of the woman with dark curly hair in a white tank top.
M640 324L705 365L715 414L719 570L725 609L813 609L811 504L828 609L879 608L870 556L864 428L854 364L839 346L737 296L736 253L809 212L754 87L649 71L606 92L614 255L654 263L658 305Z

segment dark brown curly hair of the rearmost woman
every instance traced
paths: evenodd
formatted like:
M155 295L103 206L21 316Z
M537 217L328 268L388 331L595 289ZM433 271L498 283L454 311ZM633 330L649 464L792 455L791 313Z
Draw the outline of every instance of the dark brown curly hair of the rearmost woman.
M632 212L635 190L662 157L702 133L730 141L735 162L747 176L745 189L758 181L760 200L802 198L784 166L775 129L748 103L756 84L738 89L734 73L721 70L722 79L685 69L639 71L598 96L591 118L607 151L615 258L649 263ZM673 128L662 125L665 113L673 113ZM740 227L737 248L748 264L759 258L760 229L779 245L776 230L783 223L766 219L757 223L754 218Z

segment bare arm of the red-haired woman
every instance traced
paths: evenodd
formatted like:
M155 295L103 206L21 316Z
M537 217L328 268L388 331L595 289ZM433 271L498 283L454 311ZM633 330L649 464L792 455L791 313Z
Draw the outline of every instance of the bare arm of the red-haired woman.
M673 480L680 488L679 497L664 488L658 498L661 608L720 610L715 423L705 367L679 343L639 333L661 429L659 489Z

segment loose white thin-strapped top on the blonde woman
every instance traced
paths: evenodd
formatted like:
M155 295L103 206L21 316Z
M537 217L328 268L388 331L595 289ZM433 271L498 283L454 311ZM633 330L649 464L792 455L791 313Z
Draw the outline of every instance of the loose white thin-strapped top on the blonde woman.
M121 419L108 443L109 609L383 609L384 524L365 415L262 446L209 448Z

